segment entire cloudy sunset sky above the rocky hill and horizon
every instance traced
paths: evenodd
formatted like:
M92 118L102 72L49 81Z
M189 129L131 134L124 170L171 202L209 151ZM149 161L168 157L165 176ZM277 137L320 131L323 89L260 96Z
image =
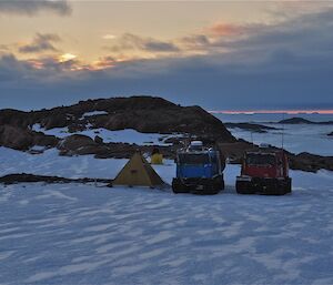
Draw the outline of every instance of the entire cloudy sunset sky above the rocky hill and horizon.
M332 1L0 0L0 109L333 110Z

